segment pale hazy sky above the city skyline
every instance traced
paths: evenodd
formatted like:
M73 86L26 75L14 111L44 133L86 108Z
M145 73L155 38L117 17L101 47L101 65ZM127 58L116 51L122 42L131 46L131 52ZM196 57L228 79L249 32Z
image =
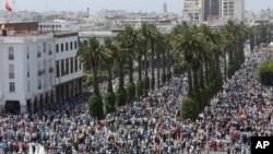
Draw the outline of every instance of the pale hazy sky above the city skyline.
M2 8L5 0L0 0ZM102 9L108 10L128 10L143 12L162 12L164 0L8 0L14 5L15 11L86 11L87 7L91 13ZM168 12L181 13L183 0L165 0ZM273 0L245 0L246 10L259 11L261 9L273 9ZM1 8L1 9L2 9Z

